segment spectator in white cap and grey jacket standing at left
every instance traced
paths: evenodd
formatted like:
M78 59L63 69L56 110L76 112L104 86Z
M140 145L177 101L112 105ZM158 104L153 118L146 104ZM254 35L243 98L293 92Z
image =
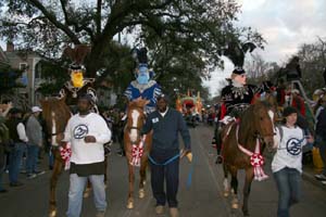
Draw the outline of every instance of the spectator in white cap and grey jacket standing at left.
M43 170L37 170L38 152L42 146L42 127L38 117L42 110L38 106L32 107L32 115L26 123L26 135L29 139L27 143L26 170L27 178L32 179L38 175L45 174Z

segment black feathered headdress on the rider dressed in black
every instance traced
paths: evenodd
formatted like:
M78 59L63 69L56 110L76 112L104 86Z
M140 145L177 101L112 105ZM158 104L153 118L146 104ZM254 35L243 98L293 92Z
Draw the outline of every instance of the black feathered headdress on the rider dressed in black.
M221 54L228 58L235 64L235 69L233 73L241 75L244 73L242 67L246 53L248 51L252 52L255 48L256 46L252 42L246 42L243 44L238 42L229 42L227 48L222 50Z

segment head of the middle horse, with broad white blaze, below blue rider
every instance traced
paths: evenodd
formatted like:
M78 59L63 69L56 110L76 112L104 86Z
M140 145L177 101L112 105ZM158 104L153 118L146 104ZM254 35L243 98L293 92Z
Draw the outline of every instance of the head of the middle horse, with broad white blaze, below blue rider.
M128 104L126 129L131 143L138 143L140 140L140 131L146 118L143 107L147 103L147 100L137 99Z

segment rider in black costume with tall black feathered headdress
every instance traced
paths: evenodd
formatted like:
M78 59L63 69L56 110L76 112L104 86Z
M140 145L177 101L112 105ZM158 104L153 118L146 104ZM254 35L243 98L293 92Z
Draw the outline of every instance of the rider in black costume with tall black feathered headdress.
M254 49L255 46L252 42L247 42L242 46L231 42L222 53L235 64L235 69L231 73L229 84L222 89L220 127L216 138L217 164L223 162L223 157L221 156L222 127L239 118L241 113L253 103L259 91L259 88L255 86L246 84L247 76L244 69L242 68L244 63L244 54L247 51L252 52Z

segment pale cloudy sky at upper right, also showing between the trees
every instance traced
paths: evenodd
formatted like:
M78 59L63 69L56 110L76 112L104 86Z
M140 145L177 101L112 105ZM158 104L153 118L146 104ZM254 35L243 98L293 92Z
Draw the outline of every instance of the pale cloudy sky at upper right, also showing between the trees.
M264 50L256 49L267 62L283 64L302 43L317 37L326 38L326 0L238 0L241 4L239 26L251 26L267 41ZM248 56L250 59L250 54ZM220 90L220 80L230 76L233 64L225 60L225 71L216 69L204 81L212 95Z

